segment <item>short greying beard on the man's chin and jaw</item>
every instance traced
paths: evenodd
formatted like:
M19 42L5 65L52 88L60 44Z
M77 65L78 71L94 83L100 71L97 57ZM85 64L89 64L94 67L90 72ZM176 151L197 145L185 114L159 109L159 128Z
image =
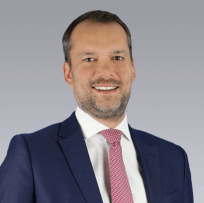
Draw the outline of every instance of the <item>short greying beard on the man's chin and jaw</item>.
M116 121L123 116L131 92L131 88L130 90L123 91L121 97L118 100L114 98L113 102L112 96L107 97L106 101L101 101L96 96L89 94L85 88L81 89L84 93L83 96L80 96L76 89L74 90L78 106L93 117L110 121Z

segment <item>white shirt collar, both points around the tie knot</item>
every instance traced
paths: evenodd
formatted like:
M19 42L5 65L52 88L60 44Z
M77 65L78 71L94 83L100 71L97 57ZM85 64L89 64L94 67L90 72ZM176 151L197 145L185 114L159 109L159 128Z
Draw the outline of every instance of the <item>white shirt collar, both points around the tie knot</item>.
M84 139L88 139L91 136L99 133L102 130L109 129L107 126L103 125L102 123L98 122L94 118L92 118L89 114L85 113L83 110L81 110L78 106L75 111L76 118L81 126ZM121 123L115 127L115 129L118 129L123 132L124 136L131 140L130 131L128 128L128 121L127 121L127 114L125 113L124 119L121 121Z

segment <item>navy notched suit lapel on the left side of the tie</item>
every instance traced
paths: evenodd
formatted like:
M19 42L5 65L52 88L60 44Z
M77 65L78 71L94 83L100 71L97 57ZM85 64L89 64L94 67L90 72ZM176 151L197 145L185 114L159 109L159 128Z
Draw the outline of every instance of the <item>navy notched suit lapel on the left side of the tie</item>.
M94 171L89 159L86 144L75 117L75 112L60 127L59 136L64 137L59 144L67 163L87 203L102 203Z

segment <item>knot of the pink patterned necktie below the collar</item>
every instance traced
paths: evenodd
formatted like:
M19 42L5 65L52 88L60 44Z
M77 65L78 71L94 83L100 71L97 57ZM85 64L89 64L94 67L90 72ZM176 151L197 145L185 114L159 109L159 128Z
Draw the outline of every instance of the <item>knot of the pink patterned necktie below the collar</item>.
M117 129L102 130L100 133L110 144L119 143L122 135L122 132Z

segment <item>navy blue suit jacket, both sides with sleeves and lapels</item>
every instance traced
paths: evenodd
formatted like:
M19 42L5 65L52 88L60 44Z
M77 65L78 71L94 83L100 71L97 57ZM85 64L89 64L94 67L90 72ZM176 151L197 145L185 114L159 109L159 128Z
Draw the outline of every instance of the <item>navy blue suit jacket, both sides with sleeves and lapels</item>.
M129 129L148 203L193 203L184 150ZM102 203L75 113L62 123L12 138L0 168L0 203Z

